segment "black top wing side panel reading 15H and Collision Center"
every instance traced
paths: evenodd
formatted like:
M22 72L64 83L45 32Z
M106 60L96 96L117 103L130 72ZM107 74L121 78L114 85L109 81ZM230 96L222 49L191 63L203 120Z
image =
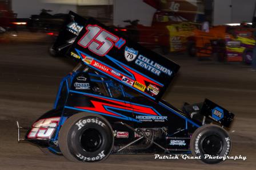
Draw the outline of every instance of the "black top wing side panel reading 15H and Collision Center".
M70 52L90 68L159 101L179 65L117 34L90 18Z

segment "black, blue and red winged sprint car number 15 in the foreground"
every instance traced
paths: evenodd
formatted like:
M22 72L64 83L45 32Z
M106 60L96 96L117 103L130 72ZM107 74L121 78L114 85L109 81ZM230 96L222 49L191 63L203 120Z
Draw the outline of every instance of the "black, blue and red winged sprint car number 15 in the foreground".
M61 81L53 109L31 127L17 122L19 141L83 162L159 153L216 164L223 159L204 155L229 155L233 113L209 99L182 110L161 99L178 64L92 18L69 15L54 48L79 63Z

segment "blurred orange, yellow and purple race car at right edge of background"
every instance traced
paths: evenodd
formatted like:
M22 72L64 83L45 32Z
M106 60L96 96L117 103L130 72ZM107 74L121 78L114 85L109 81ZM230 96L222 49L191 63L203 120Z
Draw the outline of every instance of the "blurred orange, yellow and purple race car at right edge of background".
M215 26L209 32L194 30L189 37L188 51L199 60L217 54L219 61L244 61L251 64L255 40L253 28L241 26Z

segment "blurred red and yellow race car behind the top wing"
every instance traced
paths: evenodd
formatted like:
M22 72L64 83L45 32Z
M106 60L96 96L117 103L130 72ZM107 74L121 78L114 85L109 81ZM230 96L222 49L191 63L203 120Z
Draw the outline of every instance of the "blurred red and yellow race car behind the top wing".
M170 11L157 11L151 26L139 24L139 20L124 20L126 27L115 28L124 35L146 48L160 48L163 54L169 52L185 52L189 44L188 38L194 36L198 24L182 20L181 16Z

